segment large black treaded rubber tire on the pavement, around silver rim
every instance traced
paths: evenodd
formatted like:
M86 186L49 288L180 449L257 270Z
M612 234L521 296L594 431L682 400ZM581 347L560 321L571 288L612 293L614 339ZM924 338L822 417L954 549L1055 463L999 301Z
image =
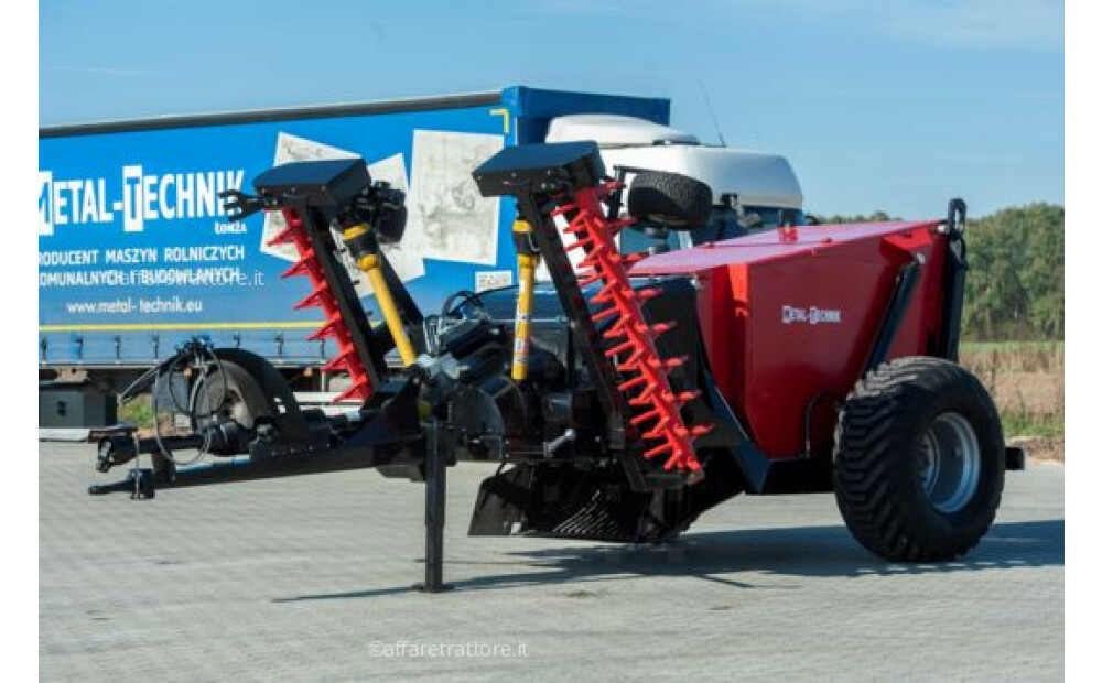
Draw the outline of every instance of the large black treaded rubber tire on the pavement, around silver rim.
M980 446L980 476L960 510L937 510L919 480L922 435L941 413L968 420ZM995 519L1006 471L994 402L972 373L939 358L884 364L850 393L834 433L834 496L854 538L896 562L960 557Z

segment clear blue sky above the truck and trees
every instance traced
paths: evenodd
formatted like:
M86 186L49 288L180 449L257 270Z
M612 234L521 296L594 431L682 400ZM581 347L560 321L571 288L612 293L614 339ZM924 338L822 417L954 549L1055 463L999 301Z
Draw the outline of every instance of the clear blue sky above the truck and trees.
M39 4L39 122L495 89L666 96L784 153L815 213L1063 203L1051 0Z

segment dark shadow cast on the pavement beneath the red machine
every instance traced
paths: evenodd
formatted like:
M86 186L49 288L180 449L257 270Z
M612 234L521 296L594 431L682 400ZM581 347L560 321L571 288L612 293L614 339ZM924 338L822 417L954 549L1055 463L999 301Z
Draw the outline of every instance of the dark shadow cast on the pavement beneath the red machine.
M879 560L852 539L844 527L752 529L688 533L659 545L579 545L520 551L509 560L445 561L464 564L522 567L509 574L452 582L457 590L505 589L542 584L584 585L649 576L694 576L741 589L795 589L798 585L753 583L765 576L851 577L868 575L976 572L984 570L1063 564L1063 520L995 523L980 544L962 560L939 564L900 564ZM755 573L734 579L733 573ZM276 603L380 597L412 590L395 586L279 598ZM574 592L584 597L587 592Z

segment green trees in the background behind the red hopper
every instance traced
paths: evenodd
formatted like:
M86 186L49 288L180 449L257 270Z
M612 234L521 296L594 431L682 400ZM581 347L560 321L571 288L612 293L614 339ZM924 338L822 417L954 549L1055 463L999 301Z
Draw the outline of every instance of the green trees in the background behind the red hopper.
M893 220L813 217L819 223ZM1063 207L1029 204L969 219L962 336L973 342L1063 339Z

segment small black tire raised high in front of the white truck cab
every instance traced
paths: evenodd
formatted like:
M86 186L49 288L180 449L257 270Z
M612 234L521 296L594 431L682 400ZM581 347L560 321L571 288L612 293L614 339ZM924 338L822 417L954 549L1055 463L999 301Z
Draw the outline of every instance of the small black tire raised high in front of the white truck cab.
M671 230L692 230L712 215L712 188L680 173L641 171L631 181L627 213Z

